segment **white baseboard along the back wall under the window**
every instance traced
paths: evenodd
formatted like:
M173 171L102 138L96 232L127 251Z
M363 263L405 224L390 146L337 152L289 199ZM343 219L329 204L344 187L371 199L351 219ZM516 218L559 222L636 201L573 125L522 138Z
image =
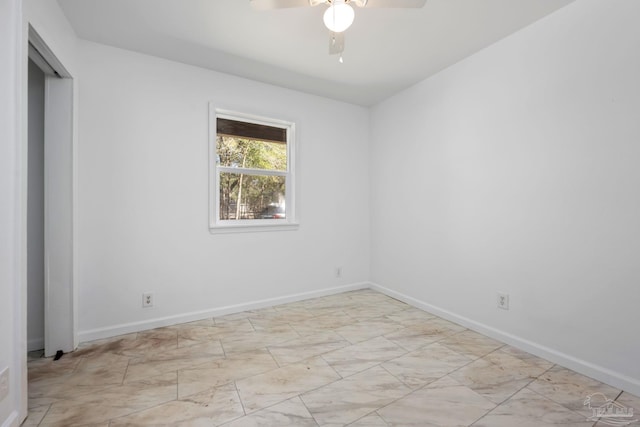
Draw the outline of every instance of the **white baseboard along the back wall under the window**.
M215 316L224 316L227 314L239 313L247 310L257 310L274 305L286 304L290 302L303 301L311 298L318 298L327 295L339 294L342 292L355 291L358 289L367 289L370 287L369 282L353 283L350 285L337 286L333 288L321 289L318 291L303 292L299 294L286 295L276 298L268 298L259 301L252 301L243 304L229 305L225 307L216 307L207 310L194 311L190 313L178 314L174 316L160 317L156 319L143 320L140 322L124 323L105 328L89 329L78 333L79 342L93 341L103 338L111 338L118 335L130 334L133 332L146 331L149 329L160 328L163 326L171 326L179 323L195 322L196 320L207 319Z

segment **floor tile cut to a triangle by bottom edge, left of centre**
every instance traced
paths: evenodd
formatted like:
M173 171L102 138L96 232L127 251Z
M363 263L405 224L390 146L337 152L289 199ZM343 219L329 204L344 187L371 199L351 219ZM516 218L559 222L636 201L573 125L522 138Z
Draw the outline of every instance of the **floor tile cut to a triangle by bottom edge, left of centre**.
M269 408L238 418L225 427L317 427L306 406L299 397L285 400Z

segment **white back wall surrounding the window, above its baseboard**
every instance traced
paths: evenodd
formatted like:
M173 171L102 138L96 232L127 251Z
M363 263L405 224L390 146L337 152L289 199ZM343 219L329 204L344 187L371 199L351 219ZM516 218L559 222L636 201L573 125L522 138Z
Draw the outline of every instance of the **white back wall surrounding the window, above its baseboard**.
M79 46L81 340L368 280L368 110ZM296 123L299 230L209 233L209 101Z

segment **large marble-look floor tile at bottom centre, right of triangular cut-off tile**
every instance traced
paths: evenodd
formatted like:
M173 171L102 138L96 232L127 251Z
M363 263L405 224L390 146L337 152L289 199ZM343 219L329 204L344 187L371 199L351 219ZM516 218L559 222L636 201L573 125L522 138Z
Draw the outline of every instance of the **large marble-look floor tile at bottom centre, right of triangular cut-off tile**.
M302 395L318 424L348 424L408 394L411 390L376 366Z

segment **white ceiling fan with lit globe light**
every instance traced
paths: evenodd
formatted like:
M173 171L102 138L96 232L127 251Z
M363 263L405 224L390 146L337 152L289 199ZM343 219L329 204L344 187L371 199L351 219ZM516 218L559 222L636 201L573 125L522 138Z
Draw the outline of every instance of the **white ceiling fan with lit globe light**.
M324 12L324 25L329 30L329 55L340 55L344 51L344 31L351 26L355 18L352 4L358 7L421 8L427 0L249 0L254 9L283 9L289 7L327 5Z

